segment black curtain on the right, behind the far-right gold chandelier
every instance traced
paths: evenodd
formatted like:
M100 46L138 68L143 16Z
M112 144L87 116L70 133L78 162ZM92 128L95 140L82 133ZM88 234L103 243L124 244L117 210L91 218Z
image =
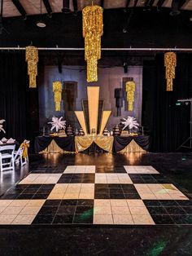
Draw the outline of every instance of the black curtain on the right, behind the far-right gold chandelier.
M174 152L190 136L190 105L176 105L190 97L192 55L177 54L173 91L166 91L164 54L144 62L142 125L150 132L152 152Z

